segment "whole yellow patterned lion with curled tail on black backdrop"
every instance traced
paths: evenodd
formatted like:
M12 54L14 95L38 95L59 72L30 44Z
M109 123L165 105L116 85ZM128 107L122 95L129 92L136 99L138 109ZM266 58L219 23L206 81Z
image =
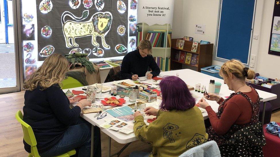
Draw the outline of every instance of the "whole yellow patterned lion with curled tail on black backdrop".
M65 21L66 16L71 17L75 21ZM103 47L110 48L110 46L106 44L105 36L111 29L112 14L108 11L97 12L89 21L81 22L81 20L87 17L88 10L83 11L82 17L76 17L69 11L65 11L62 14L61 22L63 25L66 47L79 47L75 39L85 36L92 36L92 45L99 47L99 44L96 42L96 36L100 36L102 38ZM72 39L72 44L70 44L70 39Z

